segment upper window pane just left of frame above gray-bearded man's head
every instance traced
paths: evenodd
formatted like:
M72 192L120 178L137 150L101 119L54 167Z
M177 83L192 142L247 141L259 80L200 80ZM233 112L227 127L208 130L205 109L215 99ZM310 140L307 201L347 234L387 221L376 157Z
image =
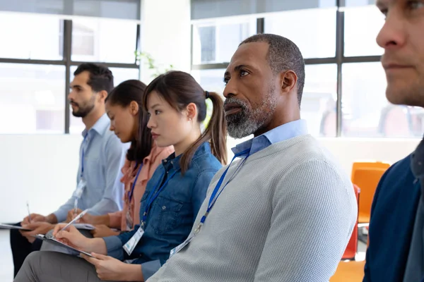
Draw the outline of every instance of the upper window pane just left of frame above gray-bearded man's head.
M240 42L256 31L256 18L194 24L193 64L229 62Z

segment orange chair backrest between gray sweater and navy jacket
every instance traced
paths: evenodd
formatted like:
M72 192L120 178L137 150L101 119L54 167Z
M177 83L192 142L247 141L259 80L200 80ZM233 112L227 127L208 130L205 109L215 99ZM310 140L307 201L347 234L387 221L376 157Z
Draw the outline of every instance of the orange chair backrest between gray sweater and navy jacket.
M369 223L372 199L375 189L390 164L382 162L354 163L352 168L352 183L361 188L359 200L359 223Z

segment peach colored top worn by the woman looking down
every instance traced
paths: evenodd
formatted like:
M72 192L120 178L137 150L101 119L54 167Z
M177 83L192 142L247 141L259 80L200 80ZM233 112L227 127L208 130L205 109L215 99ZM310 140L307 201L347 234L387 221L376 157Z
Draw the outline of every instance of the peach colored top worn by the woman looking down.
M143 167L141 168L139 178L134 187L131 203L129 203L128 193L131 191L139 166L136 166L136 161L125 161L121 169L123 174L121 182L124 183L125 187L124 208L122 211L109 214L110 228L119 228L122 231L126 231L126 213L128 212L129 204L131 204L130 216L132 216L134 223L133 228L136 224L140 223L140 201L146 190L147 182L151 176L153 176L156 168L162 163L162 160L169 157L173 152L174 148L172 146L161 148L156 146L155 142L153 142L151 153L143 159Z

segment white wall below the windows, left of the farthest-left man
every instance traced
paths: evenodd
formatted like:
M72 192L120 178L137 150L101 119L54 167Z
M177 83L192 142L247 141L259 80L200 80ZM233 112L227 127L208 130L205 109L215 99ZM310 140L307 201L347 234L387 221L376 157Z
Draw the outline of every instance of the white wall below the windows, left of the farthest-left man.
M0 135L0 222L54 212L76 187L81 135Z

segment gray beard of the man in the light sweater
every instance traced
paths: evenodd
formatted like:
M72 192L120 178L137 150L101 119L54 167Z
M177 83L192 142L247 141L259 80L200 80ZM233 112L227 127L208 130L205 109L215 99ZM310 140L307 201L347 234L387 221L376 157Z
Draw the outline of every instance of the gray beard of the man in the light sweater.
M229 98L228 103L237 103L242 107L240 113L225 117L228 135L237 139L249 136L263 128L266 123L269 123L276 109L276 97L272 94L264 99L263 104L252 105L254 109L235 98Z

